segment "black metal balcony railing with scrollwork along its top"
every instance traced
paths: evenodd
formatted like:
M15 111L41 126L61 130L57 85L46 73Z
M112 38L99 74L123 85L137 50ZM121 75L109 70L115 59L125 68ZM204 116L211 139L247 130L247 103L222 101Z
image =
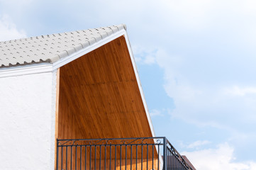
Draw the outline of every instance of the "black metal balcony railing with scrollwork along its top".
M194 170L166 137L57 140L57 170Z

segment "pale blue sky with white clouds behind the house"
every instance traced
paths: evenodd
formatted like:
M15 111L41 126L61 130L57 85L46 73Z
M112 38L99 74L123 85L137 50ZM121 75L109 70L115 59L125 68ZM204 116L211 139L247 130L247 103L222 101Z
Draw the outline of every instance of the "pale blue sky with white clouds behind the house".
M155 134L198 170L256 169L256 1L0 0L0 40L120 23Z

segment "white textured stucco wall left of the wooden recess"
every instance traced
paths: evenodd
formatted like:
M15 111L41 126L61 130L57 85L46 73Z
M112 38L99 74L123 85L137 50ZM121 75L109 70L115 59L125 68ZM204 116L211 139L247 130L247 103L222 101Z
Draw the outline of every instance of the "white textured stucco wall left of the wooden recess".
M56 72L0 78L0 169L54 169Z

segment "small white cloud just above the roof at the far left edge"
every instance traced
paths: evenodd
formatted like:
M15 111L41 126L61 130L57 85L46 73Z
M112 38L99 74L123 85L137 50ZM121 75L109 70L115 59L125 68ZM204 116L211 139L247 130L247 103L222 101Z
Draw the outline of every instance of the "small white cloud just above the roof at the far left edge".
M26 38L24 30L18 30L16 25L11 21L8 15L0 17L0 40L13 40L18 38Z

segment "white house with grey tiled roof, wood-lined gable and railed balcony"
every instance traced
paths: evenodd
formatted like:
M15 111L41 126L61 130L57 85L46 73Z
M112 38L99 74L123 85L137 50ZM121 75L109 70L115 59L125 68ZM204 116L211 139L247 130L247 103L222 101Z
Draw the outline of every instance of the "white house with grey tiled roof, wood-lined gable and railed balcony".
M191 169L155 137L125 25L0 42L0 109L0 169Z

